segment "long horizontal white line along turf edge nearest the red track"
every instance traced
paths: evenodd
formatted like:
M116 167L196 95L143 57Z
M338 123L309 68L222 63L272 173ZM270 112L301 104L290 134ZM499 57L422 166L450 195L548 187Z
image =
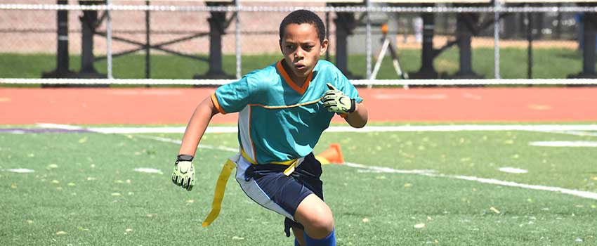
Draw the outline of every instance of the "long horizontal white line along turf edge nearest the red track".
M37 124L39 127L58 129L86 129L103 134L166 134L185 132L185 127L75 127L67 124ZM597 131L597 124L458 124L400 127L329 127L327 132L385 132L385 131ZM206 133L235 133L237 127L207 127Z

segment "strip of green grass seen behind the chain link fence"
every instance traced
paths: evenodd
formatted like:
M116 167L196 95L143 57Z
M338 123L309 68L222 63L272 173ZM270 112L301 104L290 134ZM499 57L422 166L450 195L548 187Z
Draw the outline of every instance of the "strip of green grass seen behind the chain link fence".
M582 55L573 48L536 48L534 49L533 78L566 78L582 70ZM400 64L406 72L412 73L421 67L421 51L416 49L400 50ZM261 56L242 56L242 74L247 74L280 60L280 54ZM501 48L500 74L504 79L527 78L527 52L525 48ZM476 48L473 51L473 70L485 78L494 78L494 51L492 48ZM43 72L54 70L55 55L52 54L13 54L0 53L0 77L4 78L39 78ZM334 60L334 58L332 58ZM450 48L435 59L435 69L446 75L454 75L459 70L457 48ZM70 69L78 71L80 57L70 57ZM365 77L366 59L364 55L348 58L348 70L357 77ZM565 64L563 66L562 64ZM95 64L98 72L106 73L106 61ZM113 75L117 79L145 78L145 56L143 54L122 56L113 60ZM235 56L223 57L223 70L235 75ZM178 56L152 55L152 79L192 79L195 75L204 75L207 63ZM398 79L389 56L383 61L377 79ZM39 86L39 85L36 85Z

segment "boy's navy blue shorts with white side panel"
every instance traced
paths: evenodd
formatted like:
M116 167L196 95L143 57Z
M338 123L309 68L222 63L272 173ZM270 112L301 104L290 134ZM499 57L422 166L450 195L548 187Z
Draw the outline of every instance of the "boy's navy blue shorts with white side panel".
M284 232L287 237L291 227L304 229L303 225L294 221L298 205L310 194L323 200L321 163L313 153L307 155L290 176L282 173L287 169L284 165L247 164L244 161L237 163L237 182L244 193L259 205L286 216Z

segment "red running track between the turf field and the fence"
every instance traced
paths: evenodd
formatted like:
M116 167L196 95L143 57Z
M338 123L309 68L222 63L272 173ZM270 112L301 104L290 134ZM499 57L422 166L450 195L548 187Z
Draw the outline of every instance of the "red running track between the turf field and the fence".
M186 124L211 89L0 89L0 124ZM596 122L597 88L359 89L369 122ZM212 122L236 123L237 114ZM343 119L334 117L335 122Z

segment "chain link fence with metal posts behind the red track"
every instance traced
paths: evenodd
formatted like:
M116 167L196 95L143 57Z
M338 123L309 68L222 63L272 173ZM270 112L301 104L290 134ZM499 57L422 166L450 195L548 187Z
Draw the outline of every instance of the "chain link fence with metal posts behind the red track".
M67 70L63 77L107 77L111 72L120 79L234 79L275 63L282 58L278 45L280 21L295 8L310 8L328 27L329 53L324 59L339 63L348 77L368 79L377 63L383 41L388 39L398 55L398 65L406 75L429 73L422 58L424 38L433 40L433 75L429 78L458 78L462 72L459 28L466 27L471 52L462 78L494 78L494 9L492 4L473 5L486 8L478 12L458 11L452 4L437 4L435 12L425 12L419 5L374 4L374 11L361 8L340 9L322 2L247 2L243 11L235 4L206 4L204 1L114 1L113 6L132 6L110 11L111 52L107 46L107 11L103 1L58 1L70 6L67 12L67 37L58 35L58 13L51 0L28 0L19 4L39 4L37 9L10 6L13 0L0 0L0 77L52 77L60 67L59 40L67 40ZM103 6L82 11L82 6ZM45 7L44 7L45 6ZM213 11L222 6L223 11ZM267 8L265 8L267 6ZM345 5L342 5L345 6ZM549 7L579 7L575 4L542 4L530 7L542 11L523 11L527 5L512 5L519 12L503 11L499 22L499 72L501 78L565 78L583 70L582 15L575 11L548 11ZM159 8L158 8L159 7ZM392 9L393 7L398 7ZM412 11L407 11L412 7ZM506 6L505 6L506 7ZM528 6L527 6L528 7ZM175 10L176 11L172 11ZM184 9L186 8L186 9ZM336 11L329 11L330 8ZM442 11L448 9L448 11ZM211 12L210 12L211 10ZM340 10L340 11L338 11ZM369 9L370 10L370 9ZM588 9L591 10L591 9ZM367 16L367 12L370 14ZM594 12L594 11L593 11ZM237 36L236 15L240 35ZM421 15L431 14L433 37L424 37L429 26ZM370 44L367 40L369 19ZM460 25L458 22L463 21ZM387 32L382 31L387 25ZM87 34L86 34L87 32ZM214 56L214 32L221 40L221 60ZM87 41L84 41L87 40ZM88 40L93 40L92 44ZM530 42L532 40L532 42ZM238 43L237 43L238 42ZM344 43L346 44L339 44ZM237 46L238 44L238 46ZM210 51L210 46L212 50ZM240 48L240 64L237 50ZM345 48L339 51L338 48ZM369 48L369 51L367 50ZM466 48L466 47L464 47ZM346 53L346 58L343 58ZM368 56L369 55L369 56ZM211 56L211 57L210 57ZM467 56L467 54L464 54ZM342 65L341 57L346 59ZM91 61L89 60L91 58ZM376 79L399 79L391 51L386 52ZM368 64L369 63L369 64ZM91 67L89 67L91 65ZM91 70L90 70L91 69ZM470 75L470 76L469 76ZM58 76L60 77L60 76Z

